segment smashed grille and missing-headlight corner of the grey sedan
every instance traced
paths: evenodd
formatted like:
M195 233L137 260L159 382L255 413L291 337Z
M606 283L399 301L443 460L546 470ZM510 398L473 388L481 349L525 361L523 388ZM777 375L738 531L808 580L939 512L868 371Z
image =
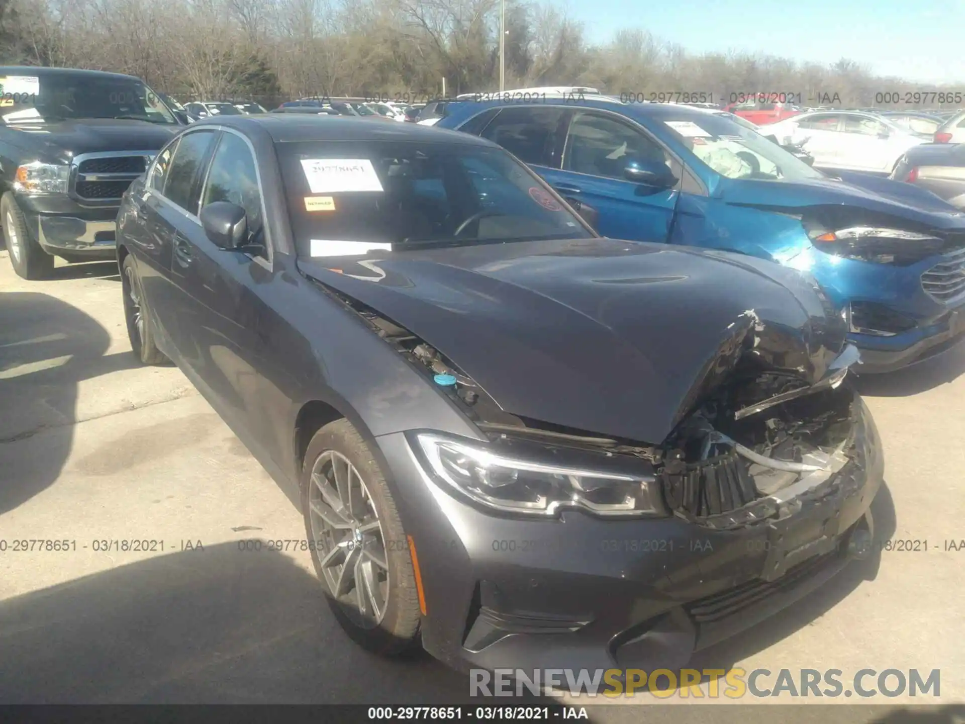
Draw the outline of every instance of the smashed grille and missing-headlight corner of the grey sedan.
M786 518L854 477L863 405L842 384L846 372L841 365L815 385L765 373L719 388L664 445L670 509L728 530Z

